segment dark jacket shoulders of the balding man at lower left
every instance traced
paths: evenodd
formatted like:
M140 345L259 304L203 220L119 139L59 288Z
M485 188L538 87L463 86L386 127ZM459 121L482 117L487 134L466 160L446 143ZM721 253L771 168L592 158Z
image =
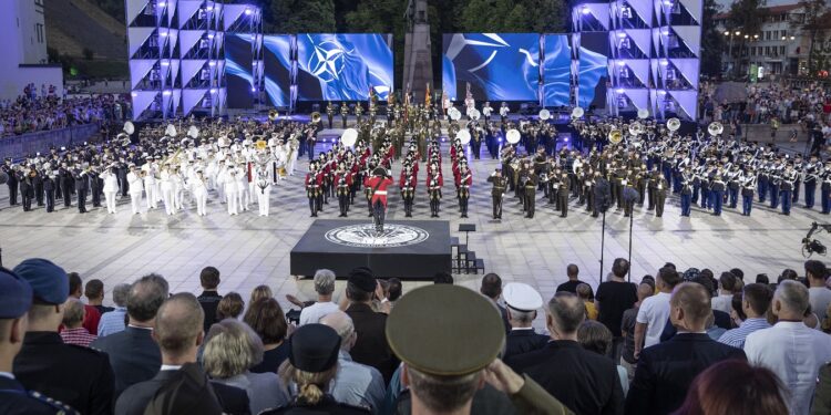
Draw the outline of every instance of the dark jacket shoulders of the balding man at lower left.
M167 381L176 371L160 371L150 381L144 381L130 386L119 396L115 403L115 413L119 415L142 415L144 408L153 398L156 391ZM232 415L248 415L250 413L248 394L234 386L223 385L220 383L211 383L214 388L223 412Z

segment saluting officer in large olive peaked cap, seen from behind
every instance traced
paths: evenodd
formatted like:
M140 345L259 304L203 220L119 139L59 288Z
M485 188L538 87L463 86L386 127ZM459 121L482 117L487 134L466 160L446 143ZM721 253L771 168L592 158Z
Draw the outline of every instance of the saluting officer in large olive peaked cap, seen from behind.
M531 377L495 359L505 340L499 313L471 290L416 289L392 309L388 328L403 362L401 380L410 387L412 414L479 414L471 406L485 382L510 396L517 414L568 413Z

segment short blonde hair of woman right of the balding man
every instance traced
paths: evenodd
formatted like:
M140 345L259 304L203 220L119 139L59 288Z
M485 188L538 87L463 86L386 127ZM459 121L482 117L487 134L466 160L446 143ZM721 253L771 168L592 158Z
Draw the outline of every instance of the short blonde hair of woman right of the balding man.
M263 362L263 341L247 324L226 319L211 326L202 364L211 377L228 378Z

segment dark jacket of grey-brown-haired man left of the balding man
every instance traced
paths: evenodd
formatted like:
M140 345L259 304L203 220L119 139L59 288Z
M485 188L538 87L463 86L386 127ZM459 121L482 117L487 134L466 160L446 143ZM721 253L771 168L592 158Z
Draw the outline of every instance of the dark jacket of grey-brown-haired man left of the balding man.
M90 346L110 355L115 374L115 398L127 387L150 381L162 367L162 352L148 329L127 325L122 332L96 339Z

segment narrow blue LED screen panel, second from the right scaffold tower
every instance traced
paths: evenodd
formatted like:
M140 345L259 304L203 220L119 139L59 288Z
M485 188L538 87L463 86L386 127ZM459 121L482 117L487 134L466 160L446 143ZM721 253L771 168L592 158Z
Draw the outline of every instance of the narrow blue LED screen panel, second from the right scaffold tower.
M543 105L568 106L572 48L567 34L546 34L543 59Z

